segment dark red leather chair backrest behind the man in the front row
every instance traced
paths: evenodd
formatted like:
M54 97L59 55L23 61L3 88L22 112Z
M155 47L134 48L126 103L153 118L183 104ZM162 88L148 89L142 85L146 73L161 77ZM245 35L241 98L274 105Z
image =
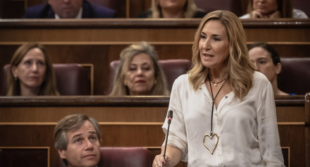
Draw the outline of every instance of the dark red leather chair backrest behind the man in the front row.
M144 147L100 147L97 167L151 167L153 158ZM58 156L58 166L66 167Z

